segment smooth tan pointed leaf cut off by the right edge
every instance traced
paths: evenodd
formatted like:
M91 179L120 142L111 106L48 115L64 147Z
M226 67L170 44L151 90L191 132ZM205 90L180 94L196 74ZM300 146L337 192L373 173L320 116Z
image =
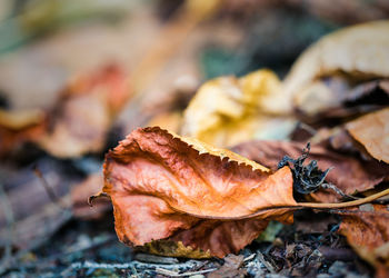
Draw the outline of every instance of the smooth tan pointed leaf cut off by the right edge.
M389 108L348 122L346 128L373 158L389 163Z

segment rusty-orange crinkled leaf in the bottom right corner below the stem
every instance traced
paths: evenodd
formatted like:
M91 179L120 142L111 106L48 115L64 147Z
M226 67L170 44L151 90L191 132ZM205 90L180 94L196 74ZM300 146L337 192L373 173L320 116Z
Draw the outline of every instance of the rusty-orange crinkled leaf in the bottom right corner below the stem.
M375 205L371 210L349 209L341 212L339 232L361 258L373 265L379 277L389 275L389 210Z

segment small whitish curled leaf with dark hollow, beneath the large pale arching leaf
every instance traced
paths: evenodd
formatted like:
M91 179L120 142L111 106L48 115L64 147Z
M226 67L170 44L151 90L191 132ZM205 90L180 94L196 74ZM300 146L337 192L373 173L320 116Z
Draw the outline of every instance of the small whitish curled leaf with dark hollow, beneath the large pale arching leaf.
M356 82L339 73L311 82L295 97L299 117L306 123L323 126L389 105L387 79Z

